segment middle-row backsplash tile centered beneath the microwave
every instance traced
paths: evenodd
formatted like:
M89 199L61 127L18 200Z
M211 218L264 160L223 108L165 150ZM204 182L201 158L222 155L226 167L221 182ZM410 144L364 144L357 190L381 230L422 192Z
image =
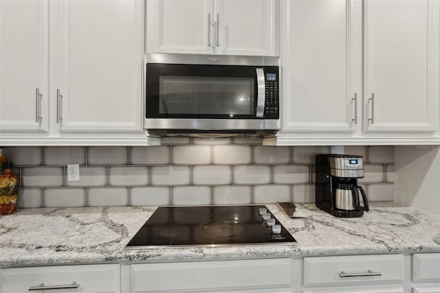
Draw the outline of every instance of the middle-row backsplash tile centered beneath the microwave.
M193 166L192 184L227 185L232 183L231 166Z

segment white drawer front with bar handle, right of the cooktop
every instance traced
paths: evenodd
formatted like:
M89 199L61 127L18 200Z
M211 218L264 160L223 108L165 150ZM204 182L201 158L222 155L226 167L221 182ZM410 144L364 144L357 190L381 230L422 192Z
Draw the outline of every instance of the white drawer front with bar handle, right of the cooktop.
M403 281L403 255L305 257L304 285Z

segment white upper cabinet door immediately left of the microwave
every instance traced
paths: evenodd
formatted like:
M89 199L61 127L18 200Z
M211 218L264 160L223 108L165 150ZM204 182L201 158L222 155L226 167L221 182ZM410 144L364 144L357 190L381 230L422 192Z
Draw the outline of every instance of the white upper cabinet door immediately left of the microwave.
M60 130L142 131L143 1L53 1L51 11Z

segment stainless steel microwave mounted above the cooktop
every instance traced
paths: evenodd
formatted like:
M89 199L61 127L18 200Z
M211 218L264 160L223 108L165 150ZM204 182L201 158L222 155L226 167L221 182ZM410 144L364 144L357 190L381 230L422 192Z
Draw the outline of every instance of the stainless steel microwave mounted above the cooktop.
M280 129L279 67L267 57L158 55L150 60L160 62L146 63L149 133L264 136Z

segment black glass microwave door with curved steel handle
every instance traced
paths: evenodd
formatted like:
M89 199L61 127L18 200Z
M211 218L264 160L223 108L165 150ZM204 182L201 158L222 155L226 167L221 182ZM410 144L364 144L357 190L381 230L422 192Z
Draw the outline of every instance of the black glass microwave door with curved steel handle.
M263 69L259 75L257 85L256 67L148 64L146 118L257 119L259 107L261 119Z

